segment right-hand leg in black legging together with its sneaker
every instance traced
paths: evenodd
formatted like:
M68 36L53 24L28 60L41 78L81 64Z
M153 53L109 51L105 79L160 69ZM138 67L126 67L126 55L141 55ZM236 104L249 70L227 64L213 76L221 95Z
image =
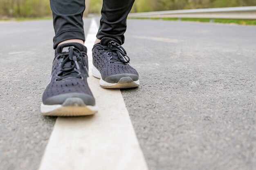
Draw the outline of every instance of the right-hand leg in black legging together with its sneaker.
M126 19L134 0L103 0L97 40L92 49L92 75L105 88L139 87L139 74L129 65L124 44Z

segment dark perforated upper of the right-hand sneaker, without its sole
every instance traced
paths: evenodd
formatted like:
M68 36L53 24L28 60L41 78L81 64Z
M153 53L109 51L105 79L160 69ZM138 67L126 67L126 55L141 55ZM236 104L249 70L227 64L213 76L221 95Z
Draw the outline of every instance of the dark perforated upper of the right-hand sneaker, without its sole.
M101 78L115 74L136 74L138 72L128 63L130 58L124 48L115 39L104 37L100 44L95 44L92 49L93 65L101 73Z

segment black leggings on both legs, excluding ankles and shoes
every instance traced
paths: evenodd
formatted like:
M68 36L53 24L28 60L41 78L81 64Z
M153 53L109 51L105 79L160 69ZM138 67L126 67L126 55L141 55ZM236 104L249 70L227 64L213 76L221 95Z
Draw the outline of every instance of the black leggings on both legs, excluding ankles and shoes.
M101 22L97 38L115 38L124 44L126 19L135 0L103 0ZM83 12L85 0L50 0L55 37L54 49L62 41L81 39L85 41Z

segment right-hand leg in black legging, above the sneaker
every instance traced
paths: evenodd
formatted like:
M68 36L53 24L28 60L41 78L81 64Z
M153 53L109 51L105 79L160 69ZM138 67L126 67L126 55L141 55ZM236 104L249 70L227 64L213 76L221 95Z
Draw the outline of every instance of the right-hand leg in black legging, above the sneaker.
M135 0L103 0L98 39L112 37L124 44L126 19ZM98 41L96 41L97 43Z

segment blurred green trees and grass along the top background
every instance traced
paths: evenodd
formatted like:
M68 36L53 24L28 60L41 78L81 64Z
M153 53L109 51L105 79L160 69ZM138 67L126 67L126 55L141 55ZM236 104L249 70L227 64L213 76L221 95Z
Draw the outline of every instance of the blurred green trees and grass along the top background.
M90 13L100 13L103 0L90 1ZM132 12L256 5L256 0L135 0ZM52 15L49 0L0 0L0 17Z

